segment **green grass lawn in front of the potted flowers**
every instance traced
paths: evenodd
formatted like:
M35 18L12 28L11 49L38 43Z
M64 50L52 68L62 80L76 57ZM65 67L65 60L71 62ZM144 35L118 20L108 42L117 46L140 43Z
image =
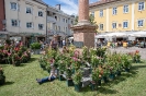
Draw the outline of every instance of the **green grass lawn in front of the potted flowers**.
M2 64L7 83L0 86L0 96L146 96L146 63L134 63L130 73L123 72L98 91L91 92L87 87L77 93L72 86L67 87L65 81L38 85L35 79L48 75L40 68L38 57L33 56L30 63L21 67Z

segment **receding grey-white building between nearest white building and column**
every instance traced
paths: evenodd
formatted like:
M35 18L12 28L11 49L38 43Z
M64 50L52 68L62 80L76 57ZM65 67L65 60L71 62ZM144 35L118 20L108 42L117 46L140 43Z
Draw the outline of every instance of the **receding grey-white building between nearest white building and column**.
M60 10L60 7L47 8L47 34L48 38L52 39L50 35L57 34L65 38L72 35L70 27L74 25L74 15L68 15Z

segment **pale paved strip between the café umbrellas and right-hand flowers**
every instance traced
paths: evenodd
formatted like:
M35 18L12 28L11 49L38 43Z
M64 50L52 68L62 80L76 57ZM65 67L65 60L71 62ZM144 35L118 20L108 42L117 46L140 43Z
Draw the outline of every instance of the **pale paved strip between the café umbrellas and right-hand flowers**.
M139 51L141 58L146 60L146 48L138 48L138 47L130 47L130 48L109 48L111 51L116 51L116 52L122 52L122 53L127 53L127 52L133 52L135 50Z

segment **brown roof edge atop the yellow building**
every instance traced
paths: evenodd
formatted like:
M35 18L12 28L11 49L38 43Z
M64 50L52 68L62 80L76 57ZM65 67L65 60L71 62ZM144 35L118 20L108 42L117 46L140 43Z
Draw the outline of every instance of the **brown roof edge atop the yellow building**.
M97 1L94 3L91 3L89 5L89 8L93 8L93 7L97 7L97 5L106 4L106 3L111 3L111 2L115 2L115 1L121 1L121 0L100 0L100 1Z

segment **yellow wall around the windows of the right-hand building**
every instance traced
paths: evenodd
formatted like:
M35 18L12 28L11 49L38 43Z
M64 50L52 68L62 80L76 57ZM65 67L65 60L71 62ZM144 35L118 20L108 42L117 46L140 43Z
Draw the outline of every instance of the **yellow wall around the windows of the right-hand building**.
M98 32L125 32L125 31L145 31L146 29L146 0L141 0L145 2L145 10L138 11L139 0L123 0L111 2L106 4L101 4L94 8L90 8L90 12L94 12L94 20L97 24L104 24L103 31L98 28ZM128 12L123 12L123 7L128 5ZM113 7L116 7L117 13L113 15ZM99 11L103 10L103 17L99 16ZM137 20L144 20L144 26L137 27ZM127 28L123 27L123 22L127 21ZM112 23L116 23L116 28L112 28Z

